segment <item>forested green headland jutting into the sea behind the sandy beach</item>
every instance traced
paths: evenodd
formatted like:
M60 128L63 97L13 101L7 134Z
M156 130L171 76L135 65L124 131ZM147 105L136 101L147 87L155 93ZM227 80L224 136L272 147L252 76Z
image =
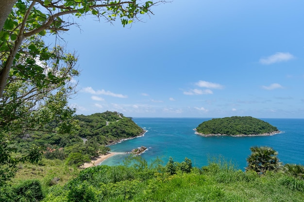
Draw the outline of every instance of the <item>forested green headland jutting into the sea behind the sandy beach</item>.
M144 132L130 118L118 112L78 115L74 120L77 120L80 126L74 135L39 133L29 135L29 141L45 148L44 155L49 159L67 158L68 164L80 166L90 161L91 157L107 153L109 148L105 145L136 137Z

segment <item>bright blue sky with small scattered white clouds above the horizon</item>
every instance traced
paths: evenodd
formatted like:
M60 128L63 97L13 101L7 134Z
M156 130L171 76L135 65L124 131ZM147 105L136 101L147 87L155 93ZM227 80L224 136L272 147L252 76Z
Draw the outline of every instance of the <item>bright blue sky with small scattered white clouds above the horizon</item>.
M123 28L87 16L77 114L304 118L303 0L173 0Z

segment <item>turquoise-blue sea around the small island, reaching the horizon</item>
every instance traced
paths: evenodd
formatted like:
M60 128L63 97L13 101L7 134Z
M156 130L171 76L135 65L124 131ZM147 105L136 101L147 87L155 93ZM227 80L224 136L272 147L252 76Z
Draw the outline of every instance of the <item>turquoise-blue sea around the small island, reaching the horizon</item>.
M232 160L239 169L246 167L251 146L270 146L279 152L283 163L304 165L304 119L261 119L276 126L282 133L256 137L202 137L194 128L211 118L134 118L133 121L147 130L143 137L125 140L109 146L112 152L129 152L145 146L141 156L148 162L156 157L166 163L169 156L181 162L191 159L193 166L202 167L213 157ZM101 164L118 165L128 155L115 155Z

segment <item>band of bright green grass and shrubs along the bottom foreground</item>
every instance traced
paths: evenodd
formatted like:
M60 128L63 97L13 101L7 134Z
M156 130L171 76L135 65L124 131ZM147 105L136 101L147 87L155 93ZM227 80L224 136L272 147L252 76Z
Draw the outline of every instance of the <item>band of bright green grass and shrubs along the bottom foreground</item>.
M193 168L191 160L148 165L140 157L120 166L85 169L66 184L26 180L3 187L3 202L302 202L304 167L286 164L258 174L225 159ZM48 178L50 179L50 178ZM3 191L3 192L2 192Z

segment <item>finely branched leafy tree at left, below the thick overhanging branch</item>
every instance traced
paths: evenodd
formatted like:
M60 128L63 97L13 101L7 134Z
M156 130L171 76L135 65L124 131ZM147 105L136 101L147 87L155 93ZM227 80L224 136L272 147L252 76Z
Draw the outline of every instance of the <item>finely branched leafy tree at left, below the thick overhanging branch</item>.
M36 70L44 75L43 83L11 70L10 82L0 99L0 186L15 175L19 162L37 162L42 155L41 148L34 144L17 148L13 141L30 139L29 131L71 133L75 129L76 121L71 120L75 109L68 106L68 97L75 90L70 81L78 75L74 68L77 58L61 47L55 47L44 50L49 56L37 65L36 58L28 54L33 43L43 46L39 38L24 44L22 57L16 65L20 68L36 66ZM54 124L44 127L50 122Z

